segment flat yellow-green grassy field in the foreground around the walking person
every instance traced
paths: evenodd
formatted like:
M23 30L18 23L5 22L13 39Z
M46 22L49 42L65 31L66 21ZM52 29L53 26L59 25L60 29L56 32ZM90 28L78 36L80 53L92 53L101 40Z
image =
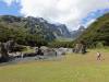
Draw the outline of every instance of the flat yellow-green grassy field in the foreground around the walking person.
M98 50L104 60L96 60ZM66 55L61 60L2 66L0 82L109 82L109 49Z

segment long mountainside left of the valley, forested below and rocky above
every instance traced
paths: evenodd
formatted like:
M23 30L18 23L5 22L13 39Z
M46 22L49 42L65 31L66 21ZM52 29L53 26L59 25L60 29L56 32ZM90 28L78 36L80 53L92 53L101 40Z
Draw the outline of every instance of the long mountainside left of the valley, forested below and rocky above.
M20 44L51 42L58 37L70 37L64 24L51 24L43 17L22 17L13 15L0 16L0 42L10 37Z

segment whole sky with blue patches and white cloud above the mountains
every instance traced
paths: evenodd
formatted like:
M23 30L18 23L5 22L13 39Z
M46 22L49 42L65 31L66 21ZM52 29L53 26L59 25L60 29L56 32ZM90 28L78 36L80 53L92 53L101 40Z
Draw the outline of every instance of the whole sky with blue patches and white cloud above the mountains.
M109 12L109 0L0 0L0 15L44 17L69 30L88 26Z

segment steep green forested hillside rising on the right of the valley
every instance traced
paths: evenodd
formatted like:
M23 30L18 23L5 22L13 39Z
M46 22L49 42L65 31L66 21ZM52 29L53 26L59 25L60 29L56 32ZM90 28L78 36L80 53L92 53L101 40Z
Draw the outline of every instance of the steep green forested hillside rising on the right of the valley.
M98 43L109 46L109 13L98 17L76 40L84 40L89 47Z

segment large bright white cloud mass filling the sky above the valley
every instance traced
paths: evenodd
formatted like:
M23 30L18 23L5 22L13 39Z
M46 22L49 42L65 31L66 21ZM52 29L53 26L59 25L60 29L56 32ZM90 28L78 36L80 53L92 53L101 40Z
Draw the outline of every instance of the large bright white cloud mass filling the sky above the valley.
M108 0L4 0L21 3L25 16L40 16L50 22L59 22L74 30L90 11L109 8Z

